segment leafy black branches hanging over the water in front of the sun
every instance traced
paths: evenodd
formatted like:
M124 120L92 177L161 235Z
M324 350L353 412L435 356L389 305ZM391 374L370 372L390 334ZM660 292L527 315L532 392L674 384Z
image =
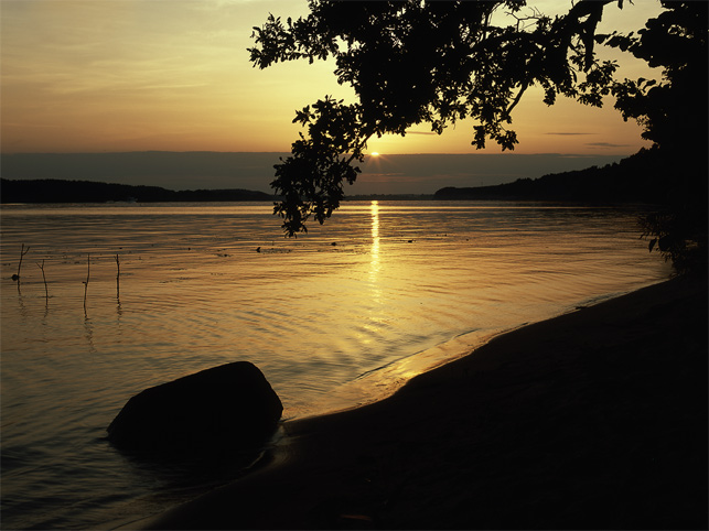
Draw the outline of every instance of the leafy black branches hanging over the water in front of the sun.
M332 56L337 82L351 85L357 96L354 104L326 96L296 113L293 122L301 123L305 133L292 144L291 156L275 166L271 183L283 197L275 214L283 218L287 235L307 230L311 216L322 224L337 208L344 183L356 180L356 164L364 161L373 136L405 136L407 128L422 122L440 134L459 120L472 119L476 124L471 143L477 149L490 140L503 151L514 149L512 111L535 85L544 88L547 105L562 95L600 107L604 96L613 95L624 118L643 124L646 138L659 144L667 141L669 131L675 139L674 123L663 120L674 116L673 90L686 86L691 73L681 64L679 44L664 54L669 57L658 59L662 44L656 39L667 32L667 24L679 26L678 40L686 41L689 33L695 44L703 39L706 56L706 14L703 33L694 26L690 32L684 30L698 20L689 12L703 9L706 13L706 3L663 1L675 19L653 22L640 36L597 35L603 10L611 3L623 7L623 0L580 0L566 15L551 19L534 8L523 10L524 0L311 0L305 18L283 22L269 15L262 28L254 29L256 46L249 52L255 66ZM508 12L512 19L506 20L514 23L494 23L498 10ZM683 13L695 17L692 22L680 20ZM617 64L599 61L597 44L627 50L651 65L659 61L665 83L616 80ZM687 62L700 68L696 56ZM706 62L701 67L706 78ZM667 104L662 113L655 112L656 97ZM706 88L702 98L706 106ZM706 123L701 126L706 138Z

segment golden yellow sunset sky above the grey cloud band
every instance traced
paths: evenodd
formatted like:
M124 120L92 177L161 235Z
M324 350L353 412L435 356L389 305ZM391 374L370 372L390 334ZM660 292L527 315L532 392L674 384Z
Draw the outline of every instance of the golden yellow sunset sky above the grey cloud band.
M570 1L530 1L545 13ZM290 151L294 110L333 95L331 63L251 67L251 28L304 0L1 0L3 153ZM636 30L656 0L606 8L604 28ZM623 61L627 77L644 65ZM609 104L611 104L609 101ZM612 104L602 110L529 93L513 115L518 153L627 155L647 145ZM472 122L369 142L379 153L471 153ZM491 145L486 151L499 152Z

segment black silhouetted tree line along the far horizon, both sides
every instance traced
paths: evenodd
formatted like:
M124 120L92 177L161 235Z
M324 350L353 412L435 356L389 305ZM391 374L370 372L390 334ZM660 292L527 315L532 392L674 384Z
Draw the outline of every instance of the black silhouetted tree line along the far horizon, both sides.
M643 148L620 162L601 167L593 165L490 186L445 186L434 194L359 194L347 199L559 201L664 205L673 197L673 172L672 162L668 163L657 148ZM53 178L2 178L0 189L3 204L280 199L279 196L241 188L173 191L160 186Z

